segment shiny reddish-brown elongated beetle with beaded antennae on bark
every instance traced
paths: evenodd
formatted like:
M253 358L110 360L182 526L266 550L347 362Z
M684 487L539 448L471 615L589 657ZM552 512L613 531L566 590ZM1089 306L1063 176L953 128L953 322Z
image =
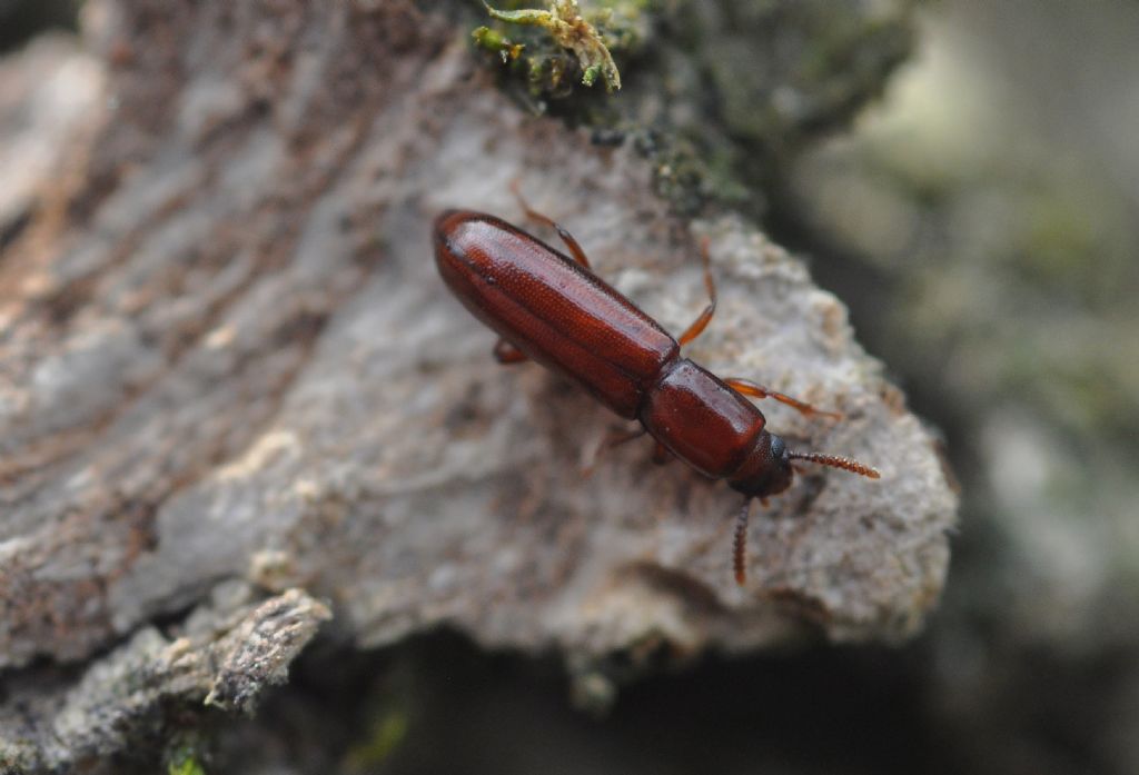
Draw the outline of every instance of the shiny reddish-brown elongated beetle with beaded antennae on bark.
M628 420L639 420L657 443L712 479L744 494L736 518L736 582L747 579L751 503L790 486L792 461L844 469L871 479L874 468L837 455L793 452L765 429L763 413L745 396L775 398L806 415L829 415L745 379L721 379L681 357L680 348L704 331L716 292L703 246L710 303L679 338L598 278L577 241L533 211L515 189L526 215L552 228L571 256L502 219L449 209L435 219L435 264L466 308L499 335L501 363L533 360L584 388ZM624 439L622 439L624 440Z

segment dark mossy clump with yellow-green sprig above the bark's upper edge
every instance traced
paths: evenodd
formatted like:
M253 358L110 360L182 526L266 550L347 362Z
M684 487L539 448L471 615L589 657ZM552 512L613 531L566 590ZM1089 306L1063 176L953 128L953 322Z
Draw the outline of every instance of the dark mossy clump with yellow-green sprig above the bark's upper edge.
M633 139L678 212L762 214L795 154L882 91L915 2L499 0L475 44L527 110Z

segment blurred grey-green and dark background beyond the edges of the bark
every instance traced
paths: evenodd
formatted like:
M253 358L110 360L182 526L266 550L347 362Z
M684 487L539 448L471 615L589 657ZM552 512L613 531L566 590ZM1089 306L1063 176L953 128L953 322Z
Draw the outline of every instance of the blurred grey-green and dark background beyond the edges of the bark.
M0 0L0 49L73 30L75 11ZM921 637L710 656L621 686L596 716L552 654L487 656L448 633L354 660L318 645L288 692L221 733L219 760L1139 773L1137 41L1133 0L931 3L886 94L771 175L765 228L850 306L960 479Z

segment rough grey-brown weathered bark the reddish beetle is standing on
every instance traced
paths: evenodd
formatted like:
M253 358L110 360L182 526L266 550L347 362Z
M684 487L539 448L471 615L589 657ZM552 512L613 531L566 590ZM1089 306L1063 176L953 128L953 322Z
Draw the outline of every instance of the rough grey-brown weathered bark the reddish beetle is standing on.
M309 595L345 649L440 624L573 660L918 628L956 505L939 456L841 303L753 225L670 215L644 158L521 113L442 14L89 13L109 63L96 129L2 212L0 663L16 679L0 760L114 750L163 696L247 704L267 676L219 654L279 675L325 617ZM637 445L585 478L613 419L538 368L498 366L432 264L433 214L518 217L516 178L671 330L703 304L708 237L721 300L691 355L841 410L763 406L795 446L883 479L808 471L754 520L738 588L738 496ZM269 601L210 602L245 584ZM273 607L290 626L259 624ZM96 702L139 660L137 704ZM67 662L83 667L43 667Z

